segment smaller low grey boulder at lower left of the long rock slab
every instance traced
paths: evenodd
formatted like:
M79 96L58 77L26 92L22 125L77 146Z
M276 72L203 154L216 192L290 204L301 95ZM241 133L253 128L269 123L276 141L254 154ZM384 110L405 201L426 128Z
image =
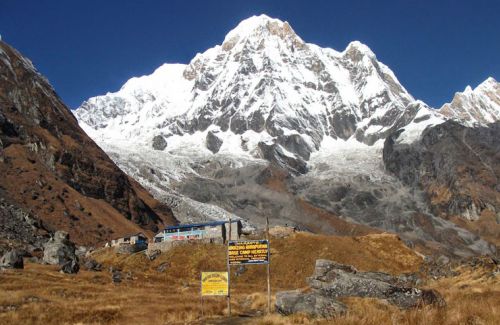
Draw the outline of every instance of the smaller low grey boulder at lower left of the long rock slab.
M276 310L282 315L306 314L318 318L333 318L345 313L346 306L317 292L302 293L299 290L276 294Z

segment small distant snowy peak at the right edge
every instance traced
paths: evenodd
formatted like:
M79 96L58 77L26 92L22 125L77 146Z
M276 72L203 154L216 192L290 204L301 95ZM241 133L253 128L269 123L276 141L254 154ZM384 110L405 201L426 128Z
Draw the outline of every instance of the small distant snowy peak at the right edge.
M455 94L451 103L444 104L440 112L466 125L499 121L500 83L490 77L474 89L467 86Z

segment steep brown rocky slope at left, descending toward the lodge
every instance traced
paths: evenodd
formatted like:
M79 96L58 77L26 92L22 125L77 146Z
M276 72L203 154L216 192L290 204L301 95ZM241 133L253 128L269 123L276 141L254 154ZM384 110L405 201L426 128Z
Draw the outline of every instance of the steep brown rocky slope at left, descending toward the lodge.
M0 193L79 243L174 222L82 131L32 63L0 42Z

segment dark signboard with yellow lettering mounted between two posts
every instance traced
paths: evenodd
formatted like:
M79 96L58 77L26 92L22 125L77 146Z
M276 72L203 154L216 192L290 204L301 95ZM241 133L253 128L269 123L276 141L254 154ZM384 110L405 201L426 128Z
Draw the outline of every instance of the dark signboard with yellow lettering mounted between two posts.
M230 265L268 264L269 242L267 240L230 241L228 257Z

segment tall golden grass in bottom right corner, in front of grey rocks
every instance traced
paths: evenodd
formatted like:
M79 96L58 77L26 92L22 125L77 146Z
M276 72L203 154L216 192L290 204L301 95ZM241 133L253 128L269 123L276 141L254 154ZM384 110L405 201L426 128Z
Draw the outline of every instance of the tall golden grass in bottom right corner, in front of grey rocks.
M491 270L459 268L459 276L430 281L426 287L439 291L447 302L444 308L426 306L401 310L377 299L344 298L346 315L334 320L313 320L303 315L277 314L255 319L248 324L499 324L500 281Z

